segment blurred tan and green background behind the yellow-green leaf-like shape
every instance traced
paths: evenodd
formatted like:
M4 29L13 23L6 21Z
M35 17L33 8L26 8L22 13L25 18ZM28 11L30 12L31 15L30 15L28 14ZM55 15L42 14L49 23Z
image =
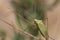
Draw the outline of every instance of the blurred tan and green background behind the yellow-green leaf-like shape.
M4 35L4 39L0 36L0 40L37 40L20 32L20 29L34 36L38 35L36 37L41 38L40 34L37 34L36 30L38 29L36 29L33 23L35 18L44 22L48 28L47 32L50 37L55 40L60 40L59 1L60 0L40 0L38 3L37 0L31 0L31 2L30 0L23 0L22 3L21 0L0 0L0 29L3 31L0 35ZM20 15L20 18L17 14ZM35 32L34 30L36 33L33 33ZM45 39L42 38L39 40ZM49 38L48 40L52 39Z

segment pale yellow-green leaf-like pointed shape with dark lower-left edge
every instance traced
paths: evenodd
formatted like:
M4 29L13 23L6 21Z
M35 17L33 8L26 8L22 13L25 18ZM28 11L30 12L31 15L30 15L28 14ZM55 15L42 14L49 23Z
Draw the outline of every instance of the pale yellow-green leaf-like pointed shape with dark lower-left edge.
M34 21L35 21L35 24L37 24L37 27L39 28L41 35L45 37L47 33L47 29L45 25L43 24L42 20L35 19Z

